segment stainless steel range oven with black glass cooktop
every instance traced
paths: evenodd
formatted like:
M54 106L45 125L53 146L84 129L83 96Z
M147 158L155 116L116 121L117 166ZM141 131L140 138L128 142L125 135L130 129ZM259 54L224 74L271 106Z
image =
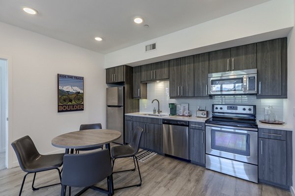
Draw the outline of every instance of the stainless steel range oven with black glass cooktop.
M258 182L255 105L212 105L206 121L206 168Z

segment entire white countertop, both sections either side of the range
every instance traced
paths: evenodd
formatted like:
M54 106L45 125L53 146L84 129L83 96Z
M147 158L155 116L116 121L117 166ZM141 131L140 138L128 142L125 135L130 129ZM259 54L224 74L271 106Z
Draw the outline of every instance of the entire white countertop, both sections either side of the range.
M183 117L183 116L148 116L143 114L152 114L147 112L135 112L135 113L129 113L125 115L129 116L138 116L138 117L148 117L148 118L158 118L158 119L172 119L172 120L182 120L182 121L193 121L193 122L200 122L205 123L205 121L208 118L200 118L200 117ZM267 123L261 123L260 121L257 121L258 128L268 128L268 129L280 129L280 130L286 130L286 131L295 131L291 124L267 124Z

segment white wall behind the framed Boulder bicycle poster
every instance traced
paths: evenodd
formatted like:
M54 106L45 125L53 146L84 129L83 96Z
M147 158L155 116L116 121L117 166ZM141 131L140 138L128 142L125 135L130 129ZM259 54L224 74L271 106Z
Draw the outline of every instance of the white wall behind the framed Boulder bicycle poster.
M0 55L11 57L12 108L9 109L10 143L29 135L40 153L59 148L51 140L78 130L81 123L101 122L105 118L104 56L12 25L0 23ZM1 57L1 56L0 56ZM84 111L58 113L57 74L84 76ZM11 90L11 89L10 89ZM11 166L11 157L10 157Z

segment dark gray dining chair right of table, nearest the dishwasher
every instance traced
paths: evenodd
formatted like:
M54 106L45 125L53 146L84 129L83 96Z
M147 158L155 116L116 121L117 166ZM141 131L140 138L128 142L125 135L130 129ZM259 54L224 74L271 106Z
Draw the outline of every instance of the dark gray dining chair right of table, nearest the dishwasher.
M120 188L115 188L114 190L124 189L124 188L129 188L129 187L135 187L135 186L139 187L139 186L142 185L142 178L141 178L141 174L140 174L140 170L139 170L138 160L137 160L137 157L136 157L136 154L138 153L138 150L139 150L139 145L140 145L140 140L141 140L142 133L143 133L143 128L140 127L140 126L137 126L135 131L133 132L133 137L132 137L132 141L131 141L130 144L121 145L121 146L115 146L115 147L112 147L112 149L111 149L112 162L113 162L113 167L112 167L113 173L135 171L136 170L135 160L136 160L138 173L139 173L139 178L140 178L140 183L139 184L129 185L129 186L120 187ZM118 159L118 158L125 158L125 157L132 157L133 158L134 169L114 172L115 160Z

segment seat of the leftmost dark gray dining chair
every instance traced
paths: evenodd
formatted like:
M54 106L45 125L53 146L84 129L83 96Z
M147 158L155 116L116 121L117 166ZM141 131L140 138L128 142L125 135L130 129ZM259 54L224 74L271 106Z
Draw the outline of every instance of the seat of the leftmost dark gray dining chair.
M40 155L25 165L24 171L29 173L42 172L59 168L63 162L64 153Z

